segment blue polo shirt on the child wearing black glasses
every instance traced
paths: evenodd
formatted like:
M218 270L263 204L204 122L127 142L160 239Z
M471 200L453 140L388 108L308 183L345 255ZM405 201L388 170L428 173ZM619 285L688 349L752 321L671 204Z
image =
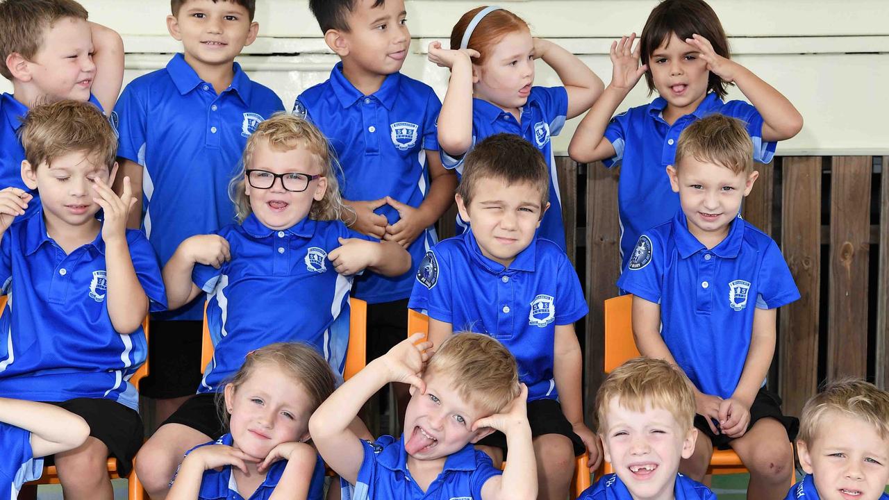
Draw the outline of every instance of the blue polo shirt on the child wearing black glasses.
M221 391L248 352L301 341L342 374L348 347L349 289L327 258L338 238L372 238L340 221L306 217L288 230L270 230L250 214L217 231L231 260L220 269L196 265L192 279L207 293L207 326L215 347L198 392Z

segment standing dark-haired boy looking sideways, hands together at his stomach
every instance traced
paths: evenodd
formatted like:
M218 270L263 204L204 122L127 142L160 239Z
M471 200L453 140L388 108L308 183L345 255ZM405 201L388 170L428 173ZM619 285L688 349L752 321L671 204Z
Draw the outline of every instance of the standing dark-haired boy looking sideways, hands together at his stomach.
M456 176L441 165L436 118L426 84L400 73L411 44L404 0L310 0L324 40L340 56L326 82L300 94L293 112L326 135L342 165L343 221L360 233L394 241L411 254L412 271L437 242L433 224L453 203ZM367 357L407 336L413 272L364 273L355 296L367 301ZM409 395L396 385L399 414Z

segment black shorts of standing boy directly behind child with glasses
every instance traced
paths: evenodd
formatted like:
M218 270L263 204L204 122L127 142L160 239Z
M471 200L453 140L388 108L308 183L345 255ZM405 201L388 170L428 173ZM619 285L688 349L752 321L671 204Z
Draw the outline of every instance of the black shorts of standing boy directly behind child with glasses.
M172 399L194 394L201 383L203 321L156 321L148 325L148 376L139 393Z

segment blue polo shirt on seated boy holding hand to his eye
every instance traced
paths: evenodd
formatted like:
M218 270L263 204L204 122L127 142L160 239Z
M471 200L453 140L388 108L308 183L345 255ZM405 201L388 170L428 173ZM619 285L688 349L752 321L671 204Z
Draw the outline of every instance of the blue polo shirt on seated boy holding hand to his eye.
M138 230L127 230L126 241L150 309L163 310L154 250ZM141 327L118 334L111 324L101 230L92 243L65 254L46 234L42 209L13 222L0 239L0 283L9 295L0 317L0 396L108 398L138 411L129 379L145 362L145 334Z

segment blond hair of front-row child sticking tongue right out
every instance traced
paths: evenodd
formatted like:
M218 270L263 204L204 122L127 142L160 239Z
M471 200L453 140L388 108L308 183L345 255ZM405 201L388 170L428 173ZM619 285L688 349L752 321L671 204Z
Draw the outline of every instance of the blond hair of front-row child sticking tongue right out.
M516 358L488 335L454 332L438 346L425 373L449 378L461 398L485 415L507 407L520 391Z

